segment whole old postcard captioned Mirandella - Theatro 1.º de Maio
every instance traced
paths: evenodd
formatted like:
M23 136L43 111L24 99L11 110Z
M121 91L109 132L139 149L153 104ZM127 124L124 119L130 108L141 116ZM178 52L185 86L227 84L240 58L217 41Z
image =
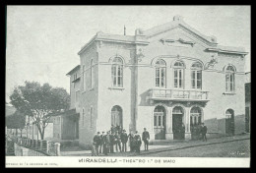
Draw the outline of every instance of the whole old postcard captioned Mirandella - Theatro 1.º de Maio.
M6 167L250 167L250 37L250 6L8 5Z

